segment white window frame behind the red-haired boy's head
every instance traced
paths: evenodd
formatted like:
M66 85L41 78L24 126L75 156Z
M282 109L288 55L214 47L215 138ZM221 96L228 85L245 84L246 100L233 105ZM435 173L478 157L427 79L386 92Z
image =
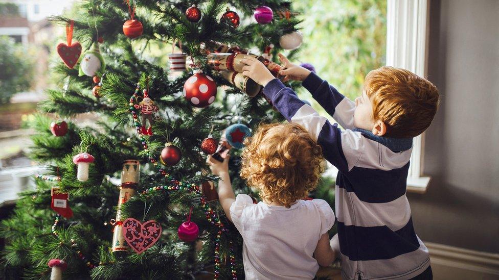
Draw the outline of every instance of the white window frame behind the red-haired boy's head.
M388 0L387 65L427 75L430 0ZM425 193L429 176L422 175L424 133L414 138L407 191Z

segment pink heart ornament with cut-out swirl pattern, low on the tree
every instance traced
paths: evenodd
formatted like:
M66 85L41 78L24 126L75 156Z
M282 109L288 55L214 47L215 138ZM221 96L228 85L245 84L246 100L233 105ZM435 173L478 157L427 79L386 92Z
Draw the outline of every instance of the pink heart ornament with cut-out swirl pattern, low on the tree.
M154 220L141 223L137 219L128 218L123 221L123 236L126 243L140 254L160 239L161 225Z

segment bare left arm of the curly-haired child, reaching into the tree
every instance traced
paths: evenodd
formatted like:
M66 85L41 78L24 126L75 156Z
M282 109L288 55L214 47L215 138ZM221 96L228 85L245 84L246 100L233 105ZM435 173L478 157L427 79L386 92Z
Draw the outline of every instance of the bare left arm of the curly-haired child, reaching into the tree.
M220 181L218 181L218 200L222 205L223 212L225 212L227 218L232 222L230 209L232 203L236 201L236 195L232 189L231 178L229 177L229 158L230 156L227 155L223 162L219 162L209 156L207 162L211 166L212 173L220 177Z

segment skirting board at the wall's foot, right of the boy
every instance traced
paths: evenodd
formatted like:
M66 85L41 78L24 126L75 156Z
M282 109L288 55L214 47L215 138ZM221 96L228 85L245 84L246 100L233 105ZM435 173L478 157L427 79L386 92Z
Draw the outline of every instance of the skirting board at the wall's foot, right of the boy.
M435 279L499 279L499 254L424 242Z

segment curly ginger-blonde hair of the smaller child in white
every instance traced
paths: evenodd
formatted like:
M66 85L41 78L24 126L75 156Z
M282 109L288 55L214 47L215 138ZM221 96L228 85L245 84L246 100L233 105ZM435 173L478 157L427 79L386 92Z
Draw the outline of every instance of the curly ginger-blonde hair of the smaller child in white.
M241 177L267 202L289 208L315 188L324 172L322 148L300 124L260 124L244 144Z

